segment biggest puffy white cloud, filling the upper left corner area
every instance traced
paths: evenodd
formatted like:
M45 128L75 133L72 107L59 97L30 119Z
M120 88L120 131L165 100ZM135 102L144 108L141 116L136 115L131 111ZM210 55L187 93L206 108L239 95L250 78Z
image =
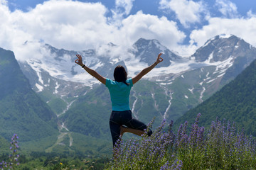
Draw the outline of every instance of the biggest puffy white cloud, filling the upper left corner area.
M1 0L0 47L13 50L18 59L26 57L19 50L27 40L44 40L67 50L96 47L112 40L115 28L107 24L106 12L100 3L65 0L45 1L28 12L11 12Z

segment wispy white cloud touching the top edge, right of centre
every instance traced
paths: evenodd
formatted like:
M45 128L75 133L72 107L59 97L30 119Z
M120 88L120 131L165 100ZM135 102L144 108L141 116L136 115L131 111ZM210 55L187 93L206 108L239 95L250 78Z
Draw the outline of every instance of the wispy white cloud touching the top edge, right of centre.
M188 27L191 23L199 23L202 13L208 15L202 1L161 0L160 8L174 11L178 20L185 27Z

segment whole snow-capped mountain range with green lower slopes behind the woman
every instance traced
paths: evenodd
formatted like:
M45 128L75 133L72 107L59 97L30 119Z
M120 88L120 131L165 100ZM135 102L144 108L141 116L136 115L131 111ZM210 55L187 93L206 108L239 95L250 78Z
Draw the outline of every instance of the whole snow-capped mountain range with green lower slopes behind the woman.
M235 35L217 35L191 57L181 57L157 40L142 38L125 52L119 48L110 43L100 50L72 51L42 44L36 58L19 61L33 90L58 116L60 135L63 129L68 132L69 149L73 143L82 143L75 141L71 132L104 140L110 137L106 121L111 111L110 95L105 86L99 86L97 80L75 64L76 54L82 55L88 67L113 79L118 64L126 67L129 77L133 77L153 64L159 52L164 52L164 62L146 74L132 88L130 96L134 117L144 123L155 117L155 125L163 118L181 117L256 59L255 47Z

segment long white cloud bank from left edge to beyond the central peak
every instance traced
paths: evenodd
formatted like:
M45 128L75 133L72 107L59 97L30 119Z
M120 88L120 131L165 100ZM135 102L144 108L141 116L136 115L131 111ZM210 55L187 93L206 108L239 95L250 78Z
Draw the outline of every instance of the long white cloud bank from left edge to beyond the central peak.
M174 49L186 36L174 21L142 11L122 19L121 26L116 26L108 22L109 11L100 3L50 0L28 12L11 12L6 1L0 1L0 47L13 50L18 60L35 57L40 51L39 43L24 46L26 41L43 40L65 50L87 50L113 42L124 52L139 38L157 39ZM126 8L128 13L131 7Z

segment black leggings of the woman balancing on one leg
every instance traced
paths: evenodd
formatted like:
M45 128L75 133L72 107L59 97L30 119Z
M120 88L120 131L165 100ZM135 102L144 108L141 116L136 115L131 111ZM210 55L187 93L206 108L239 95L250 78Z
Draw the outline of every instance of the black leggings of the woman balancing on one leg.
M120 126L126 125L128 128L136 130L146 130L146 125L137 119L132 118L132 111L112 111L110 115L110 131L112 135L113 147L120 136ZM147 135L152 131L149 129Z

